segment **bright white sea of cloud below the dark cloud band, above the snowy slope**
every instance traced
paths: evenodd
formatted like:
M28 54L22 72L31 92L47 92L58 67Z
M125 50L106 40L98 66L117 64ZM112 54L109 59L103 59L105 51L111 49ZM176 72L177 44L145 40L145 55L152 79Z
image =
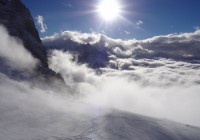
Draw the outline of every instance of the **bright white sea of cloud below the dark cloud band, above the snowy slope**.
M162 60L166 62L160 68L107 68L97 75L87 65L73 62L69 53L52 54L50 67L70 81L74 94L85 102L200 126L199 65Z

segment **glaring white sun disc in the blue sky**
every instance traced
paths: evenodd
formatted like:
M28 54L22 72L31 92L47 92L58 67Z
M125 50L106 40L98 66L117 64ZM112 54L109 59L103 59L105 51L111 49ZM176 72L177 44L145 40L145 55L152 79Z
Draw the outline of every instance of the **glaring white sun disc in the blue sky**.
M102 0L97 11L104 20L112 21L119 16L121 7L117 0Z

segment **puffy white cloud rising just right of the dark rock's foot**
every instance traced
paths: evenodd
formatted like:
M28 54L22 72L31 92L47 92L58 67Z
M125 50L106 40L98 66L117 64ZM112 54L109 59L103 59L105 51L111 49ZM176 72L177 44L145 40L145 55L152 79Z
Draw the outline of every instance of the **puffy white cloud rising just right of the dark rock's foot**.
M49 58L49 67L55 72L60 73L65 77L67 85L75 85L78 83L93 83L95 73L89 69L85 64L78 65L73 63L73 57L69 53L62 51L52 51ZM86 74L88 73L88 74Z

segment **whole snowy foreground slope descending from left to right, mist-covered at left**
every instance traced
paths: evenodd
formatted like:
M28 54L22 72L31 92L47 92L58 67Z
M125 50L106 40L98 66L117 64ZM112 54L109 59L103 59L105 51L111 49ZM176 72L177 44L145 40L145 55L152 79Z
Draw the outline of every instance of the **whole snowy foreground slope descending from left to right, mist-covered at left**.
M3 75L0 82L2 140L200 139L198 127L69 101Z

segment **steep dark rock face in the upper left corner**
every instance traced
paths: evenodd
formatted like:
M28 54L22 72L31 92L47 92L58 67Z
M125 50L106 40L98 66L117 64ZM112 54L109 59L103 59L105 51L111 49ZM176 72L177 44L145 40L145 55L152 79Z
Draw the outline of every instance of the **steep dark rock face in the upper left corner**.
M46 51L42 46L38 31L29 10L20 0L0 0L0 24L9 34L20 38L31 54L48 67Z

